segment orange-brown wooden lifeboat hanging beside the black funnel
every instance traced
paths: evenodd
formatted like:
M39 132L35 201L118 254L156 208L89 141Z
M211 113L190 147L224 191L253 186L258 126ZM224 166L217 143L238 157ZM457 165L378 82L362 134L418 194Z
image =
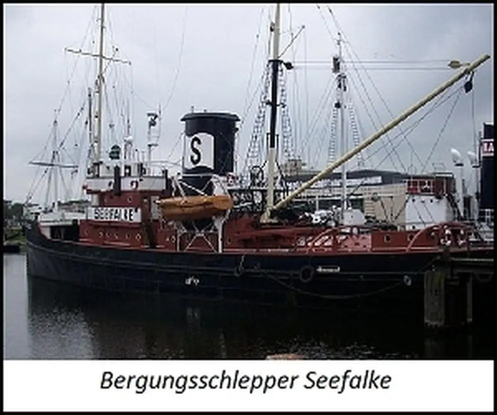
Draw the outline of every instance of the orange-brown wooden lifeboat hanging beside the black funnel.
M156 203L167 220L206 219L221 216L233 207L233 199L227 194L171 197Z

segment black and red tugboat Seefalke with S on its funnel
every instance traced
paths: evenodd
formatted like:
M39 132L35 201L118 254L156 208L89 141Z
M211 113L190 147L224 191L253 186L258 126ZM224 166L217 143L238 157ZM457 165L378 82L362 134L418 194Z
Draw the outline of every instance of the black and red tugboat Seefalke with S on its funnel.
M103 18L102 4L102 25ZM346 161L461 79L466 87L475 69L490 56L461 66L443 85L290 190L281 185L277 171L278 82L280 73L291 68L280 57L279 4L271 31L265 164L250 166L245 181L235 171L240 118L231 112L192 110L181 118L184 154L176 175L167 169L154 172L152 145L147 157L137 157L130 137L124 138L122 148L114 145L104 159L98 116L83 186L90 205L84 212L69 212L55 203L51 212L37 214L27 224L30 277L150 295L410 312L422 304L425 273L444 252L454 257L493 257L493 241L457 216L412 228L378 226L355 220L354 209L344 199L336 221L330 223L313 220L309 206L298 199L339 167L345 179ZM96 93L101 96L101 43L97 57ZM342 59L333 58L339 92L345 88ZM335 104L339 109L341 96ZM98 114L101 111L99 99ZM147 116L150 135L158 114L151 111ZM56 150L53 154L50 166L60 166ZM451 180L443 175L430 180L413 177L406 197L452 205Z

